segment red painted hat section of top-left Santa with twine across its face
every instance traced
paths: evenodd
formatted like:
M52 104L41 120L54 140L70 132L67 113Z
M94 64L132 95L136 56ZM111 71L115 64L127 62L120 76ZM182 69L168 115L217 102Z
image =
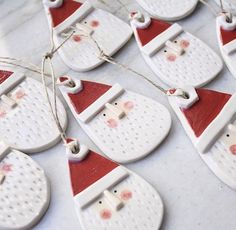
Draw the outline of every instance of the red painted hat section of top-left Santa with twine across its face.
M69 18L76 10L82 6L82 3L75 0L63 0L63 3L59 7L49 8L49 12L52 17L53 27L64 22Z

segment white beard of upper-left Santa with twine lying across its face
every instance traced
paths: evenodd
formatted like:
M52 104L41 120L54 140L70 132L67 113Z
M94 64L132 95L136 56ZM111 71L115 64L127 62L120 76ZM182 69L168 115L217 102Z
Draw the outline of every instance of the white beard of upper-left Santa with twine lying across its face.
M99 25L91 27L92 21L98 21ZM132 30L125 22L100 9L95 9L80 24L93 29L93 38L107 55L117 52L132 36ZM59 45L65 38L58 35L55 40ZM104 62L99 58L99 50L94 42L83 36L79 42L70 39L59 53L68 66L78 71L90 70Z

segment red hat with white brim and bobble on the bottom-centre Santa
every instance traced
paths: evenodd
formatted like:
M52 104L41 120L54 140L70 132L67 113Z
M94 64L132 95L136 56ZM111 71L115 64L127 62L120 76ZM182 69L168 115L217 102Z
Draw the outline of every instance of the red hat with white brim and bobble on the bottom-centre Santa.
M72 190L80 208L88 205L129 175L124 167L90 151L84 145L80 146L78 153L70 154L68 151L67 155Z

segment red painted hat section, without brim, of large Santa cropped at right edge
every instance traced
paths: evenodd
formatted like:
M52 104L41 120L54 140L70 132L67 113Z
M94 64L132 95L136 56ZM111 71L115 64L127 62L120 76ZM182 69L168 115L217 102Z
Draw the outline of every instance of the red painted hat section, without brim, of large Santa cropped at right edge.
M225 112L232 95L207 89L197 89L199 100L190 108L182 109L196 137L200 137L206 128Z

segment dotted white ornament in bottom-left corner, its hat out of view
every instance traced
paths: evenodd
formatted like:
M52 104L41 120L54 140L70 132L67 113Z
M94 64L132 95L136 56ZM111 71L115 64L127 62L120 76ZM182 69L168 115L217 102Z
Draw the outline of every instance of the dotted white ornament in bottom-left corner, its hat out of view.
M31 229L46 212L49 200L42 168L0 142L0 229Z

